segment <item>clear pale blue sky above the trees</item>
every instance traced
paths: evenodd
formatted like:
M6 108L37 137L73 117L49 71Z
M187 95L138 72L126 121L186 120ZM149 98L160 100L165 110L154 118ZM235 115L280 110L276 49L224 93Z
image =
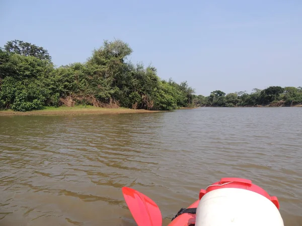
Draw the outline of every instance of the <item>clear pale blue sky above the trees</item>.
M58 66L121 39L132 62L196 94L302 86L301 0L0 0L0 26L0 46L31 42Z

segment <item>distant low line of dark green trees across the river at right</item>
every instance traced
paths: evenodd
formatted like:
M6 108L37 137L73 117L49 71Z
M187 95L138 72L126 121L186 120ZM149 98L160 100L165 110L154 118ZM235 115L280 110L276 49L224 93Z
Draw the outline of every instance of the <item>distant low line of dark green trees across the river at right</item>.
M302 87L270 86L266 89L253 89L252 93L240 91L225 94L212 91L209 96L194 95L193 104L197 106L293 106L302 104Z

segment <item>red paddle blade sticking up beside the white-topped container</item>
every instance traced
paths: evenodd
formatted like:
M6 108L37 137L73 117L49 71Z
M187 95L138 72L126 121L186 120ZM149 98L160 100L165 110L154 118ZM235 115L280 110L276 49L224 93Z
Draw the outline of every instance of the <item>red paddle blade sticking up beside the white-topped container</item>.
M161 210L152 199L129 187L122 192L138 226L162 226Z

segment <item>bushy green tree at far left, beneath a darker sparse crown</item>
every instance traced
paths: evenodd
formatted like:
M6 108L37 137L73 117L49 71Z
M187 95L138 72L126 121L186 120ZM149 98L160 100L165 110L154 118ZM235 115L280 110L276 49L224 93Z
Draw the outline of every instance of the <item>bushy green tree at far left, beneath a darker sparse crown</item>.
M49 74L53 65L49 61L33 56L10 55L9 65L12 73L1 81L0 105L17 111L39 109L50 96Z

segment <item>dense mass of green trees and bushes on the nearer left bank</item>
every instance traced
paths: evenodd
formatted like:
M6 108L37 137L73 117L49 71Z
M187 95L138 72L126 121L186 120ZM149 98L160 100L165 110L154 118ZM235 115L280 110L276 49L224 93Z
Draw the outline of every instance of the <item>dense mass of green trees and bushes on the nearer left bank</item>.
M48 51L19 40L0 48L0 109L89 104L171 110L192 106L194 89L157 76L153 66L132 64L132 49L105 41L85 63L54 67ZM195 96L197 97L197 96Z

